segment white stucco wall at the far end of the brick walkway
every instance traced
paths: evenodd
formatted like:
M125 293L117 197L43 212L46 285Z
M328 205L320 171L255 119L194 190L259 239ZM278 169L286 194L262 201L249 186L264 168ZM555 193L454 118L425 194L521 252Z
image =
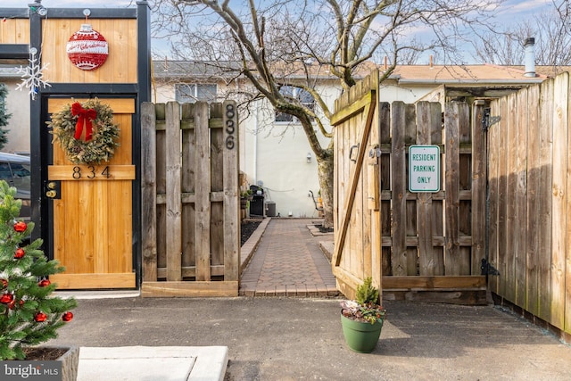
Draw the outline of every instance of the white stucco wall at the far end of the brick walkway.
M331 86L318 90L333 108L339 90ZM240 147L240 168L249 184L265 189L266 201L276 203L276 212L281 217L319 217L309 196L312 191L318 197L318 166L301 124L276 122L275 113L265 100L252 105L251 112L241 124L244 141ZM327 130L331 128L327 126ZM318 137L327 147L329 139L319 132Z

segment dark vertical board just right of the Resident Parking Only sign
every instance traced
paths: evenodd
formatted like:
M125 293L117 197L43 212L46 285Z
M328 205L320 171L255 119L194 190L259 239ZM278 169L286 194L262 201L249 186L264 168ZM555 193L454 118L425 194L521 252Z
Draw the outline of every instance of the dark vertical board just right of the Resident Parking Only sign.
M446 134L446 246L445 274L460 275L459 258L459 104L446 104L444 117Z

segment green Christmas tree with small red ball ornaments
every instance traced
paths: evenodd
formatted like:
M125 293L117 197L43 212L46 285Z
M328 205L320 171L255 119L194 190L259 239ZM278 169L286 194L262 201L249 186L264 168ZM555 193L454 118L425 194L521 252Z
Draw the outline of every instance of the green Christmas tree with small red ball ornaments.
M15 194L0 181L0 360L22 360L26 347L54 338L77 305L53 295L55 285L48 277L63 268L46 260L42 240L21 246L34 224L17 220L21 200Z

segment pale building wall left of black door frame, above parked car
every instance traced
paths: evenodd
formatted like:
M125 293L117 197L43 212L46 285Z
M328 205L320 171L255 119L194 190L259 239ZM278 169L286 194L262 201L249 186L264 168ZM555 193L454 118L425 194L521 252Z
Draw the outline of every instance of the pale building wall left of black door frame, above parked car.
M2 149L6 153L29 153L29 94L16 90L20 79L0 79L8 87L6 111L12 114L8 120L8 143Z

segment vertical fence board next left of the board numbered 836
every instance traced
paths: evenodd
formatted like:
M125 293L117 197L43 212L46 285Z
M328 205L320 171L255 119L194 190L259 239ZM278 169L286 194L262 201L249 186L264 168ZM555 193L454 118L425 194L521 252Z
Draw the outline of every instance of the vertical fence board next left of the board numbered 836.
M194 226L196 232L196 280L211 279L211 163L210 131L208 127L208 104L194 104L194 125L196 138L196 195Z

